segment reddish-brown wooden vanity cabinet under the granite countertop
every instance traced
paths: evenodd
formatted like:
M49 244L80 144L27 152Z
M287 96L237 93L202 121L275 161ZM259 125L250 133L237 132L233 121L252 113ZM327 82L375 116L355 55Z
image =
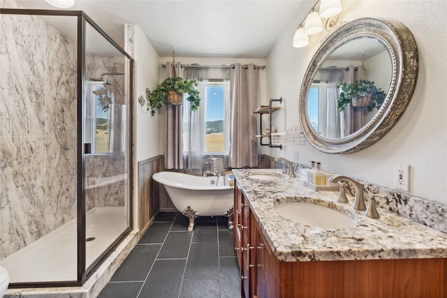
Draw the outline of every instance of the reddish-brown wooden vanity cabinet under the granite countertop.
M240 189L235 184L234 240L242 297L447 297L446 258L277 260Z

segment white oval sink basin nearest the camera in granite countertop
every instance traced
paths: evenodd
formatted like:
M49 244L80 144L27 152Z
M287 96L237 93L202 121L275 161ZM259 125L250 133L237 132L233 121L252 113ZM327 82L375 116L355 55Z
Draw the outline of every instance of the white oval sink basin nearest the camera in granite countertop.
M277 204L274 209L291 221L323 229L349 229L357 225L357 222L346 214L318 204L285 202Z

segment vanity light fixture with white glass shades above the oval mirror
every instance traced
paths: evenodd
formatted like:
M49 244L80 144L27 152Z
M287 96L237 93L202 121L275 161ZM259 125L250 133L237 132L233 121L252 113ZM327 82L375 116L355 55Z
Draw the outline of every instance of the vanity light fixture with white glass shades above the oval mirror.
M317 9L318 8L318 12ZM325 21L325 30L330 31L339 19L339 13L342 11L341 0L318 0L310 10L309 14L301 22L293 36L293 47L305 47L309 45L309 35L319 33L323 30L323 21ZM336 17L335 20L332 18Z

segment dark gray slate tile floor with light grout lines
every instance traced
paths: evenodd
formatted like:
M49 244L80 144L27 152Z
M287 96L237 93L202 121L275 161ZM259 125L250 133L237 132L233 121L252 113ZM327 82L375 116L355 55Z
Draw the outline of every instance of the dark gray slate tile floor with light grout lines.
M160 213L99 298L240 297L233 231L223 216Z

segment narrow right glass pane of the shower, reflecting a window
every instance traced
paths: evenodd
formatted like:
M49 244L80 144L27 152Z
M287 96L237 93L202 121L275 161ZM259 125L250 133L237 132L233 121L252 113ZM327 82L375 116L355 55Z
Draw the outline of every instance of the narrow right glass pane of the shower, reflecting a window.
M85 266L131 227L130 61L89 23L85 32Z

